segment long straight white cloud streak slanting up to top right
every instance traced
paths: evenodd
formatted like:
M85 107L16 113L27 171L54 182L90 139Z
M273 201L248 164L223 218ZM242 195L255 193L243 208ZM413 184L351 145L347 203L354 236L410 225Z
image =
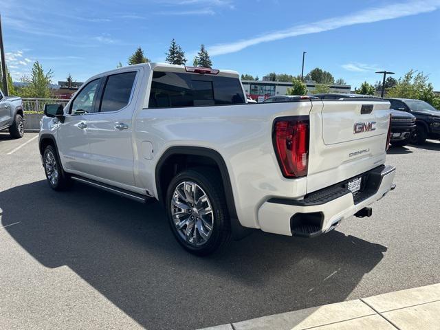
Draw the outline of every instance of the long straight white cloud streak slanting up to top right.
M258 45L259 43L267 43L270 41L291 38L293 36L301 36L304 34L314 34L336 30L344 26L363 23L374 23L389 19L398 19L400 17L433 12L434 10L437 10L439 8L440 0L413 0L402 3L393 3L390 5L382 5L380 7L361 10L360 12L355 12L353 14L348 14L341 17L333 17L330 19L324 19L322 21L316 21L314 23L296 25L287 30L280 30L268 34L263 34L261 36L256 36L250 39L236 41L233 43L213 45L211 47L208 47L208 52L212 56L230 54L234 52L239 52L240 50L243 50L252 45Z

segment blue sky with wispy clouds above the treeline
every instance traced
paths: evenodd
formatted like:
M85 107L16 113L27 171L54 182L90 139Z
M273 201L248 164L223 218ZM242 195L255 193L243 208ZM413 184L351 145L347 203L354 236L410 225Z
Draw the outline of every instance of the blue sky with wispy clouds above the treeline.
M189 63L204 43L214 67L259 77L300 74L305 51L305 73L321 67L353 88L380 69L417 69L440 90L440 0L0 0L0 14L17 81L36 60L54 83L84 81L137 46L164 61L175 38Z

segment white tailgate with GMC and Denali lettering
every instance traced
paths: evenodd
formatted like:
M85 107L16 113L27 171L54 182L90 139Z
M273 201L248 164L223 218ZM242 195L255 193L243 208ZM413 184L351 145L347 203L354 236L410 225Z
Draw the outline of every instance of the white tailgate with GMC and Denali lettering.
M380 100L314 100L307 192L384 164L390 111Z

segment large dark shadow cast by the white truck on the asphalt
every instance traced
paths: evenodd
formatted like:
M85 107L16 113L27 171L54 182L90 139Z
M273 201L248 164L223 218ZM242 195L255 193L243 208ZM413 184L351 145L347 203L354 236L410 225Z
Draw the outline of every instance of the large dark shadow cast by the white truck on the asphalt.
M32 196L25 199L23 197ZM255 232L198 258L158 203L77 184L0 192L1 225L45 267L67 265L148 329L197 329L345 300L386 247L342 232L293 239Z

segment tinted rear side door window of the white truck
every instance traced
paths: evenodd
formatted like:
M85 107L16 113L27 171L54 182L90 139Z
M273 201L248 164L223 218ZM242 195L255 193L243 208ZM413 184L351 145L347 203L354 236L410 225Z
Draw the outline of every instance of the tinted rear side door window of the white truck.
M129 104L136 72L113 74L107 79L100 111L118 111Z

